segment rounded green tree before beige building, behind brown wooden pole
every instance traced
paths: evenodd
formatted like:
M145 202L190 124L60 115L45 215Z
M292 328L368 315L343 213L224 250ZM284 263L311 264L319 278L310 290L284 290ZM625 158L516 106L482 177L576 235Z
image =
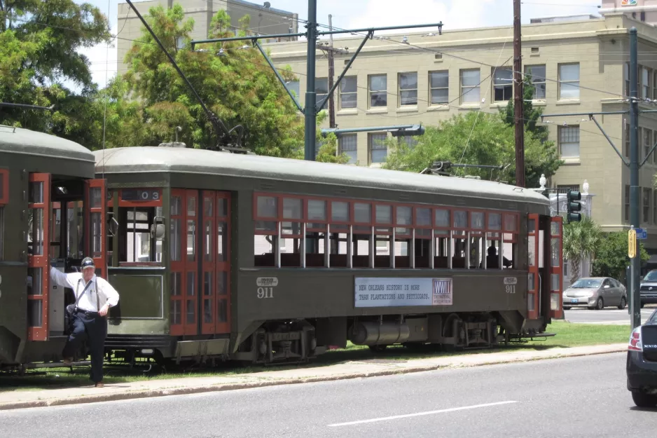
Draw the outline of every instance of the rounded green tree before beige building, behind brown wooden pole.
M453 116L449 120L428 126L424 135L415 137L417 144L389 141L389 154L384 167L421 172L434 160L452 163L503 165L504 170L457 169L457 174L478 175L482 179L505 182L516 180L515 132L497 114L477 113ZM525 173L527 186L538 186L540 174L553 175L560 161L553 144L541 144L531 132L525 132ZM539 171L537 176L536 172Z

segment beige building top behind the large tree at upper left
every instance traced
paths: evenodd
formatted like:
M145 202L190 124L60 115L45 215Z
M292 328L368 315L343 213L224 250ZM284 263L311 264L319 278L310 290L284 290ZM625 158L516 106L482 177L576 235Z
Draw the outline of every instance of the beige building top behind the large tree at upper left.
M249 30L255 34L293 34L298 32L298 15L280 9L272 8L270 1L261 4L251 3L243 0L148 0L133 1L139 13L143 16L148 9L161 4L170 8L174 4L181 4L186 18L194 19L194 32L192 39L206 39L207 32L212 22L212 17L219 11L226 11L230 15L230 24L233 31L240 30L240 19L249 15L251 23ZM137 14L132 11L127 3L118 4L118 74L127 71L127 65L123 63L125 55L132 47L132 41L141 36L141 21ZM295 38L292 38L296 40Z

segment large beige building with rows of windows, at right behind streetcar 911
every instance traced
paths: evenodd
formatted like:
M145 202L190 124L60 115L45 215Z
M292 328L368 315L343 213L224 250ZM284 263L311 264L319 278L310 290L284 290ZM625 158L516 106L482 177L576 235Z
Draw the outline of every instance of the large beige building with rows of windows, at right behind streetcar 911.
M532 21L523 26L523 66L534 76L532 103L542 107L544 114L628 109L628 30L632 26L639 31L640 93L657 100L657 57L651 56L657 50L657 29L653 25L614 11L602 18L584 15ZM353 53L361 39L336 39L335 46L348 47ZM300 81L291 85L303 102L305 41L272 43L268 48L275 64L290 65L300 73ZM336 55L336 76L349 57ZM443 28L442 36L425 32L375 38L366 43L336 92L336 124L338 128L435 125L463 111L497 113L513 98L512 67L511 26ZM318 100L327 92L327 72L326 56L318 50ZM656 107L645 103L641 108ZM597 116L597 120L628 156L628 116ZM546 121L565 161L548 185L581 190L583 180L588 179L596 196L592 212L596 221L605 231L628 227L629 171L602 132L587 116ZM657 114L641 115L639 124L643 158L657 140ZM386 132L342 135L340 150L350 155L353 163L377 166L387 155L377 140L386 136ZM646 247L657 252L656 171L653 153L641 170L639 184L641 222L649 233Z

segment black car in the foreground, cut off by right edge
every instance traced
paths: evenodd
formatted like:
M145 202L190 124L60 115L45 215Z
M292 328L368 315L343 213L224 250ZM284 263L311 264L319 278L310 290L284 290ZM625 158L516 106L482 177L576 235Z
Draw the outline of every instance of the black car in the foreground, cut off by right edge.
M630 334L627 373L635 404L657 406L657 310Z

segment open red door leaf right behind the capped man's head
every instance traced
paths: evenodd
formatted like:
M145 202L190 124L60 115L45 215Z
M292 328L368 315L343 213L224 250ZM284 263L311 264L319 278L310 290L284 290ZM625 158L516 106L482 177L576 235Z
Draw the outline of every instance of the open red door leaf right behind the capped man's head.
M105 179L85 181L85 251L96 266L96 275L107 278L107 193ZM88 206L88 207L86 207Z

